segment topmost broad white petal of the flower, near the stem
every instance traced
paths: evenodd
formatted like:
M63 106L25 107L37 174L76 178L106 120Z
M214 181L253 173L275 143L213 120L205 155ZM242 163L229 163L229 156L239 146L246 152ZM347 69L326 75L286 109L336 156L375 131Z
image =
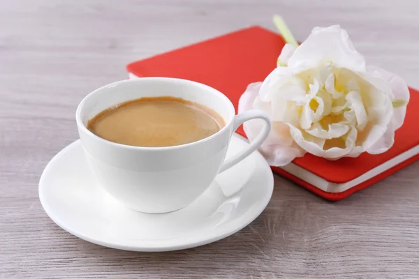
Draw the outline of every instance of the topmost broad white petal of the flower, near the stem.
M365 73L364 57L355 50L348 33L339 25L313 29L310 36L288 59L288 67L292 68L294 73L316 68L323 63Z

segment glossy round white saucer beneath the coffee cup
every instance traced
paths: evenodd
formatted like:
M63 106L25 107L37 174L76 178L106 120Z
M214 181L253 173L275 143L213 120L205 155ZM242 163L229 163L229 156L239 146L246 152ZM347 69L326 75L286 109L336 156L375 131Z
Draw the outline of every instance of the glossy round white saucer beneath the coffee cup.
M233 135L227 157L247 141ZM219 174L203 195L179 211L147 214L126 208L96 182L80 140L48 163L39 198L50 218L67 232L102 246L168 251L201 246L234 234L256 219L272 196L272 171L258 152Z

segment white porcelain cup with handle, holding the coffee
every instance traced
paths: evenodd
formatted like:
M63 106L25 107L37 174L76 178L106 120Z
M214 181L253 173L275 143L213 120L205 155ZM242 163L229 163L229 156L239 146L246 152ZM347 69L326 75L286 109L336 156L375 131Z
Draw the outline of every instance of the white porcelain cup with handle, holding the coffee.
M86 128L89 119L108 107L156 96L183 98L210 107L223 117L226 126L203 140L167 147L117 144ZM249 156L270 132L270 119L263 112L235 115L233 104L216 89L168 77L123 80L96 89L82 100L75 118L84 153L98 182L119 202L146 213L165 213L191 204L219 172ZM230 137L250 119L263 119L266 125L248 149L224 162Z

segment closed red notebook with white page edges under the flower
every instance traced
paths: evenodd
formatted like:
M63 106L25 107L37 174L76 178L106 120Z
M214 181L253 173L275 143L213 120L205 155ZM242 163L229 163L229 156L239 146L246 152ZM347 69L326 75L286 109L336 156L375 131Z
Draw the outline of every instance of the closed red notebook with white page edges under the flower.
M210 85L226 94L237 110L247 85L263 81L276 67L284 44L277 33L250 27L133 62L126 69L130 77L178 77ZM336 161L307 153L272 170L325 199L339 200L415 162L419 159L419 92L410 91L404 125L396 131L389 151ZM245 136L242 128L237 133Z

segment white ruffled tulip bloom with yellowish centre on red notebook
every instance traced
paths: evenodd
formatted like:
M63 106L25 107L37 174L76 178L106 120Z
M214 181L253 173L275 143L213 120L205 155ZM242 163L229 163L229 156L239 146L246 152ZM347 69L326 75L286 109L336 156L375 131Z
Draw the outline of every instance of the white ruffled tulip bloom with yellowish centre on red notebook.
M394 143L409 102L401 77L366 66L346 31L315 28L299 47L286 45L278 67L250 84L239 112L257 108L271 116L261 151L270 165L286 165L309 152L336 160L383 153ZM258 121L244 124L250 140Z

